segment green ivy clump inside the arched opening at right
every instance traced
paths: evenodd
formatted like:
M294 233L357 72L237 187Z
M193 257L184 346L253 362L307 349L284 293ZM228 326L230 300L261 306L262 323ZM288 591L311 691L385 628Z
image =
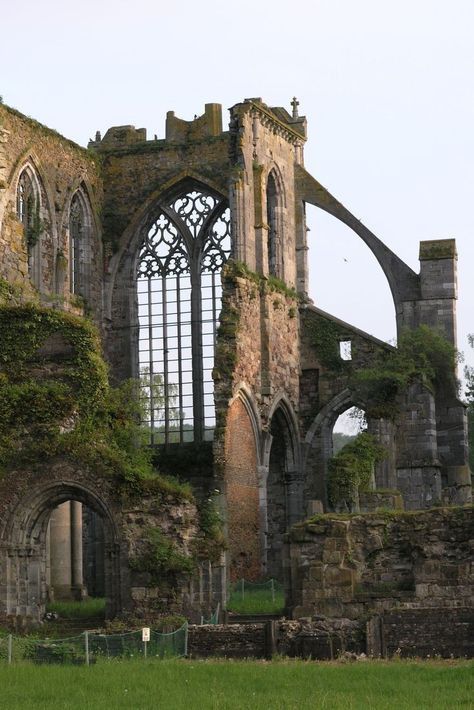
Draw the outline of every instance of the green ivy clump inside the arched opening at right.
M343 446L328 462L328 496L331 505L346 505L352 510L358 492L369 488L374 466L385 455L385 449L367 432L362 432Z

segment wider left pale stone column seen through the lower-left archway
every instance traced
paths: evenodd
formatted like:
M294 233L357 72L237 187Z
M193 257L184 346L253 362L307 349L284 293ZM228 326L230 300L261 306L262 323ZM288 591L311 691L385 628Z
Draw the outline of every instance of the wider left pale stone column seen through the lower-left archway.
M59 505L51 515L50 575L56 599L71 596L71 514L70 501Z

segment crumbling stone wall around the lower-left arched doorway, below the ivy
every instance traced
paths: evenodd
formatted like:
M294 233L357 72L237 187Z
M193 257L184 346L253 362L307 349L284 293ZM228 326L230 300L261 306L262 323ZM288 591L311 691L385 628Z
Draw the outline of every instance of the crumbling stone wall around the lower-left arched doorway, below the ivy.
M52 510L65 500L79 500L103 521L109 616L128 612L151 618L179 613L188 603L189 576L164 568L157 579L140 568L140 559L150 529L159 530L179 554L192 558L197 534L193 503L170 494L127 496L113 479L97 477L86 466L65 459L11 471L0 481L0 492L1 619L42 618L46 529Z

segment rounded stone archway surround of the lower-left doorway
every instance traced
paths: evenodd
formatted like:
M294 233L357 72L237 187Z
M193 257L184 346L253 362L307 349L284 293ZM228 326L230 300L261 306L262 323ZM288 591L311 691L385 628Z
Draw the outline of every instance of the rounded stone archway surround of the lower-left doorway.
M0 616L41 620L47 600L46 540L51 513L77 501L100 516L104 528L106 616L122 609L118 533L112 511L87 483L58 480L32 485L19 497L0 540Z

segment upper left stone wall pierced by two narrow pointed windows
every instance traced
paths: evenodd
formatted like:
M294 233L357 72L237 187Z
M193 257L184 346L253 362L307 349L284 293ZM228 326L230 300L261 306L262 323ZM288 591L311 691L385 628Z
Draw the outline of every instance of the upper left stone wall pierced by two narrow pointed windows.
M28 276L27 247L23 225L16 214L16 190L22 168L30 164L41 192L39 238L40 282L38 289L47 303L64 305L77 299L70 293L69 208L81 186L92 215L88 308L99 321L102 307L102 242L99 211L102 181L94 156L37 121L0 105L0 276L20 289L26 298L36 298ZM58 278L58 269L63 274ZM61 282L61 283L59 283Z

